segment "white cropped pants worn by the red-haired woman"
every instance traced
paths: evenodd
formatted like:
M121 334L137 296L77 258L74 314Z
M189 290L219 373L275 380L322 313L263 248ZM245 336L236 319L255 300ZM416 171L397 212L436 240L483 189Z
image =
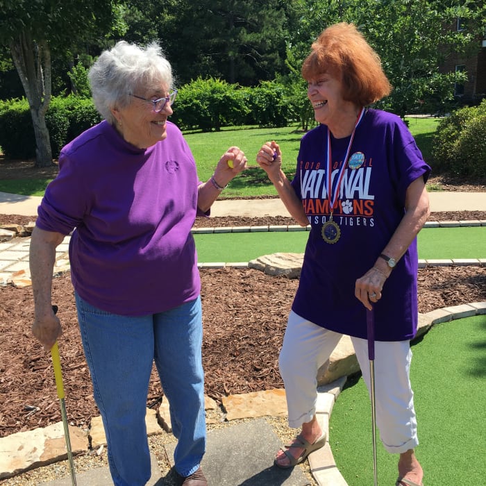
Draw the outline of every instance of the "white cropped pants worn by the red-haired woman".
M300 428L314 417L317 371L328 360L341 337L340 333L290 312L278 360L285 384L290 427ZM369 392L367 340L351 337L351 341ZM409 341L375 342L376 425L389 453L404 453L419 444L410 385L411 360Z

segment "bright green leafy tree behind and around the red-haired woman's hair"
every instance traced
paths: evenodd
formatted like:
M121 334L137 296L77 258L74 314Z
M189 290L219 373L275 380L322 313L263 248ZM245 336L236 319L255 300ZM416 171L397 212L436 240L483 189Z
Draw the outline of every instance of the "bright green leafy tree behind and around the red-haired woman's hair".
M394 90L378 103L404 117L419 110L424 99L436 106L453 98L453 83L464 74L439 74L450 51L478 49L485 32L486 4L480 0L296 0L289 49L303 61L310 44L327 26L353 22L378 52ZM463 31L445 27L460 17Z

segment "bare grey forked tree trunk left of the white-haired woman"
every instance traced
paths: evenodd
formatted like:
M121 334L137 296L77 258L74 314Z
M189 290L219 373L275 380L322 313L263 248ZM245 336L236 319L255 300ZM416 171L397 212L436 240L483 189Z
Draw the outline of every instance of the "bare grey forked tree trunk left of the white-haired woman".
M35 42L22 32L10 43L10 53L22 81L31 109L35 133L35 167L52 165L51 141L46 125L46 112L51 102L51 51L45 40Z

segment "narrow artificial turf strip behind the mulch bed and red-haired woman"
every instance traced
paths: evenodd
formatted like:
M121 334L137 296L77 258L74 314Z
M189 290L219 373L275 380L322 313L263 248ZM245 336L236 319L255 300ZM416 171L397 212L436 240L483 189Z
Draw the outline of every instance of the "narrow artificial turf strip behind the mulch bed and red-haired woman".
M249 262L269 253L303 253L308 231L196 234L199 262ZM419 258L486 258L486 226L424 228Z

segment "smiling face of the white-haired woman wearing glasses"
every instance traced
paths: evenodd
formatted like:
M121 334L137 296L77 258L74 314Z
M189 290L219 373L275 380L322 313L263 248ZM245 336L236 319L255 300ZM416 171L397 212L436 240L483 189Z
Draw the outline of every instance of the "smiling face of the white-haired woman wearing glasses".
M160 90L137 90L137 96L152 100L166 97L169 94L167 87ZM153 104L131 97L131 103L124 108L113 108L112 114L117 119L115 128L121 133L126 142L137 146L139 149L146 149L167 137L167 117L172 115L172 108L165 103L162 111L153 111Z

